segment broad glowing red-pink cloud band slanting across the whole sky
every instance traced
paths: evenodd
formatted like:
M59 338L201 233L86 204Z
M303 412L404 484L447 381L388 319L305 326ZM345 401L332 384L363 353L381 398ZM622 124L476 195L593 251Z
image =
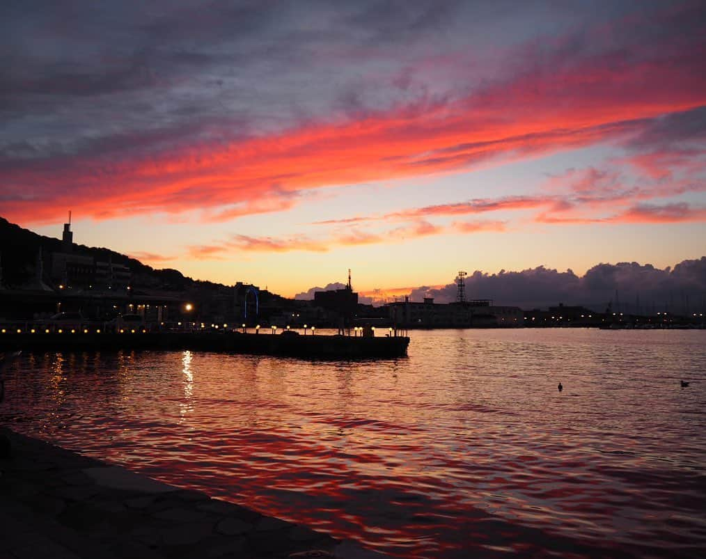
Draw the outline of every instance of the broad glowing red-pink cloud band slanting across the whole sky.
M229 220L286 210L311 189L459 172L626 138L649 119L706 104L706 40L640 47L579 58L527 48L515 76L466 97L420 97L256 138L198 140L122 159L79 153L14 162L0 173L3 212L31 223L59 219L69 207L96 220L201 208L206 219Z

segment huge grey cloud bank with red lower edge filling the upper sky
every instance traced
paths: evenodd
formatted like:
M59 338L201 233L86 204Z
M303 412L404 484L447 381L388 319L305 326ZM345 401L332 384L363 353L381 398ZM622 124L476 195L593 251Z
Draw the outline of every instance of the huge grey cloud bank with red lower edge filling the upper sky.
M630 131L645 107L701 102L699 20L698 4L637 1L6 1L0 179L6 199L38 200L6 211L47 219L71 192L95 215L109 198L96 195L116 183L125 196L111 203L124 210L162 199L181 211L198 205L198 188L211 188L201 208L257 198L270 169L299 176L286 192L591 145ZM308 136L326 127L325 139ZM378 131L380 161L331 164L337 131L347 154ZM289 138L293 171L267 160ZM406 164L381 165L393 160ZM254 161L268 173L237 191ZM304 176L327 164L325 179Z

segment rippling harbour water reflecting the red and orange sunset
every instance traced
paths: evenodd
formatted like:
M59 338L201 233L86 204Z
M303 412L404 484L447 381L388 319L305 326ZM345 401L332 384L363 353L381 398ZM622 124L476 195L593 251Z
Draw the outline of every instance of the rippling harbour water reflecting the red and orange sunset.
M394 361L29 354L0 411L20 431L400 556L698 556L705 341L438 330L412 332Z

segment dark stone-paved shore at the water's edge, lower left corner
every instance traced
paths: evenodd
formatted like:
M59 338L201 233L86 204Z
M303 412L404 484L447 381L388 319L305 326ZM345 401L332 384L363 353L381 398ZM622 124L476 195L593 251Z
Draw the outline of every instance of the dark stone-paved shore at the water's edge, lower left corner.
M0 430L0 559L379 559L356 543Z

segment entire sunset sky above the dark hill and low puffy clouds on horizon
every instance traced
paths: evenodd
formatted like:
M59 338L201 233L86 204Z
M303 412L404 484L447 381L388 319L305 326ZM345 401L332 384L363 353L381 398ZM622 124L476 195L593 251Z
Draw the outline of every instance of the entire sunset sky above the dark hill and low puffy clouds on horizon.
M702 1L5 1L0 215L292 296L706 255Z

